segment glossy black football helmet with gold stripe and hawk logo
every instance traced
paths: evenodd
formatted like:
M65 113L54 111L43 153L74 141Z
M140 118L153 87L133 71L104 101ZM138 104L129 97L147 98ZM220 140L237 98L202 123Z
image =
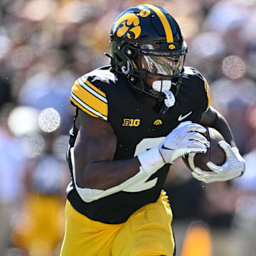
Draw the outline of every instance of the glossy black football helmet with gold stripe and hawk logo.
M158 101L166 95L147 86L144 79L171 80L177 94L187 49L178 23L164 9L151 4L123 11L110 33L111 65L134 88Z

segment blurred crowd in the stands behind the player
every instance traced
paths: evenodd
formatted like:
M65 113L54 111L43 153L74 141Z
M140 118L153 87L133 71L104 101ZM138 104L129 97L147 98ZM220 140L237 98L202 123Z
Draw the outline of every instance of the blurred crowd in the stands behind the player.
M0 255L58 255L64 230L65 149L75 79L109 60L114 19L134 0L1 0ZM186 65L208 80L211 105L230 124L247 162L241 178L204 184L182 160L166 191L177 256L255 256L256 1L149 0L176 18L188 44ZM201 230L189 232L201 223ZM201 234L201 235L200 235ZM198 245L199 244L199 245ZM191 254L189 254L191 253Z

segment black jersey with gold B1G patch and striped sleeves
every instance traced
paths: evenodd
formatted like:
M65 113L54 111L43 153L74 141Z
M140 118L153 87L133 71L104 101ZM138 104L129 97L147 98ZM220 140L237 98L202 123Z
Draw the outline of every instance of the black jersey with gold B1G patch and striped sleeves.
M210 89L205 78L194 68L185 68L176 103L164 114L152 110L134 95L122 76L115 76L110 67L93 70L75 81L71 102L80 110L110 122L117 136L114 160L131 159L164 141L180 122L198 122L210 104ZM69 149L74 146L77 130L70 133ZM68 163L73 176L70 153ZM169 164L150 178L151 188L119 191L91 203L82 201L74 182L68 187L68 200L78 212L102 223L122 223L129 215L147 203L155 202L164 187Z

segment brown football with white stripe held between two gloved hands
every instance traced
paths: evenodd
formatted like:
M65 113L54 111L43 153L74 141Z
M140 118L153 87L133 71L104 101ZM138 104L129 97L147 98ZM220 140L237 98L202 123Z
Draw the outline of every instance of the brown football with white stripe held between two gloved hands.
M225 140L220 132L212 127L206 127L206 134L203 135L210 142L210 147L206 153L191 153L183 157L184 163L191 171L193 171L194 166L203 171L211 171L206 165L208 161L217 165L222 165L225 162L225 151L218 144L221 140Z

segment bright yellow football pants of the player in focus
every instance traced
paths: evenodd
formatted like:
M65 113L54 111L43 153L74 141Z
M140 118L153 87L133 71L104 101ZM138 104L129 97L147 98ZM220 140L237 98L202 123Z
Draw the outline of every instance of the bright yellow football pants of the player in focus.
M78 213L67 201L61 256L174 255L172 213L164 191L125 223L105 224Z

